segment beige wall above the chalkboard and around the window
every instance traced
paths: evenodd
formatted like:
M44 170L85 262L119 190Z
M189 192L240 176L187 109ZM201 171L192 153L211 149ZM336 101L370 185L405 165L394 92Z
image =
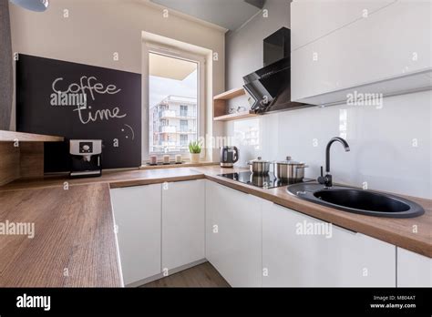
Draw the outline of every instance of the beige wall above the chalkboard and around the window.
M10 14L14 52L141 73L141 34L147 31L217 52L212 94L224 90L223 30L170 12L164 17L162 8L145 0L56 0L45 13L10 5ZM207 123L219 135L221 127L210 118Z

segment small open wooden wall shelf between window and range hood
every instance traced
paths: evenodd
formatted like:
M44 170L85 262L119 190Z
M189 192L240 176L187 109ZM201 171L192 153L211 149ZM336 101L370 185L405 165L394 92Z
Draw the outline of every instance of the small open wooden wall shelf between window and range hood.
M243 111L238 113L227 113L227 100L245 95L243 88L235 88L225 91L213 97L213 120L215 121L230 121L241 118L250 118L257 116L252 111Z

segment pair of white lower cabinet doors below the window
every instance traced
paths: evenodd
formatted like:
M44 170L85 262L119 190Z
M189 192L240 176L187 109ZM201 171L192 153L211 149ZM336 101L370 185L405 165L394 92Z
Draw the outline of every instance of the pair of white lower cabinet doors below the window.
M203 179L111 189L111 199L125 285L205 259Z

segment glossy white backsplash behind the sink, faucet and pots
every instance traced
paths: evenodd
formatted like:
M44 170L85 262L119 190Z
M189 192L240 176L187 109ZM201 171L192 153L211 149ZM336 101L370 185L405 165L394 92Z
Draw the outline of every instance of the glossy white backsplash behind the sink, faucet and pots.
M238 100L236 102L245 102ZM292 156L316 178L330 138L344 137L351 151L334 143L334 181L432 199L432 91L384 98L371 106L308 107L231 121L226 134L240 149L237 166L257 156Z

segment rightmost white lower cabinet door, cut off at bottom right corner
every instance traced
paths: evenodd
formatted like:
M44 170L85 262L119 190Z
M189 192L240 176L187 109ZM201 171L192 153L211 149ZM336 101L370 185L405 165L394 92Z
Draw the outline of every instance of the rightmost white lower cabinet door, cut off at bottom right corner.
M397 287L432 287L432 259L397 248Z

